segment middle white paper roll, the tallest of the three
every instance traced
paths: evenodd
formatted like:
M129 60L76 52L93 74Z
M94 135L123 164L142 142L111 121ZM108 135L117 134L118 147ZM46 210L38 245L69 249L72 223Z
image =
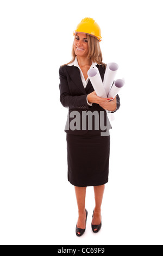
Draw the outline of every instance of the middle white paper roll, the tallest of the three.
M107 96L109 95L117 70L118 70L118 64L115 62L111 62L106 65L106 70L104 75L104 88Z

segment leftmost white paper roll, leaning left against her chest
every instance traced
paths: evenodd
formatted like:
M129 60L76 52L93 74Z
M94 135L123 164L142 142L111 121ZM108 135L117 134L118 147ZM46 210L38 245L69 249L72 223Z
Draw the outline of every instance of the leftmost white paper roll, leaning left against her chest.
M103 81L101 79L101 75L99 74L99 70L97 68L91 68L88 72L87 75L90 78L91 84L99 97L104 97L106 98L106 92L105 88L103 86Z

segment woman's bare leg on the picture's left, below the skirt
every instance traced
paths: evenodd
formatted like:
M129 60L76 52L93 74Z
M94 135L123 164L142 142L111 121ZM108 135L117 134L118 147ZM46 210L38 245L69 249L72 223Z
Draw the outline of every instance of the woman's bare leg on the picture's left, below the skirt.
M75 186L75 192L76 192L76 198L77 198L77 204L78 204L78 213L79 213L77 227L78 228L85 228L85 219L86 219L85 195L86 195L86 187L76 187Z

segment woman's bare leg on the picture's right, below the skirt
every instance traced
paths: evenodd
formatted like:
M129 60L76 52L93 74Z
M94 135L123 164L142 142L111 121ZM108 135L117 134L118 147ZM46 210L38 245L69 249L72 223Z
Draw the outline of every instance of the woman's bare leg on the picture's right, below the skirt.
M94 209L94 214L92 218L93 225L99 225L101 223L101 204L103 200L104 189L105 189L105 185L94 186L95 209Z

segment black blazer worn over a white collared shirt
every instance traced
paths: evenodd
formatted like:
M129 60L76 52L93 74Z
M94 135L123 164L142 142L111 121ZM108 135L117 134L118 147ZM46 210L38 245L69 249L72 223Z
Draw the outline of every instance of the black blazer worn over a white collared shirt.
M99 70L99 73L103 81L104 74L105 74L105 67L103 65L96 65L96 66ZM93 103L92 106L87 105L87 101L86 101L87 94L92 93L94 89L92 87L90 80L88 81L86 88L84 88L82 79L80 77L80 70L78 69L78 67L74 65L60 66L59 77L60 77L60 84L59 84L60 102L64 107L68 108L65 132L74 134L74 135L85 134L88 130L90 130L88 126L89 118L86 121L86 127L83 128L82 114L93 114L94 111L96 111L96 114L99 114L99 120L96 119L95 121L95 118L92 118L93 123L92 123L91 134L99 134L101 132L109 131L109 129L111 129L111 125L105 109L103 109L97 103ZM120 108L120 97L117 95L116 110L118 108ZM85 112L85 113L82 113L82 112ZM79 113L79 115L75 115L76 113ZM74 118L75 120L73 120ZM70 125L71 122L73 121L77 121L78 124L80 124L80 127L79 125L77 125L76 130L72 130L72 126ZM98 130L97 130L97 126L95 128L96 122L98 122L99 124ZM102 124L101 122L105 126L105 129L104 129L104 126L101 125ZM103 136L107 136L107 135L103 135Z

